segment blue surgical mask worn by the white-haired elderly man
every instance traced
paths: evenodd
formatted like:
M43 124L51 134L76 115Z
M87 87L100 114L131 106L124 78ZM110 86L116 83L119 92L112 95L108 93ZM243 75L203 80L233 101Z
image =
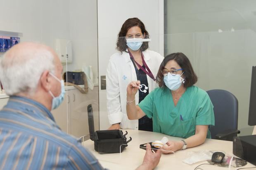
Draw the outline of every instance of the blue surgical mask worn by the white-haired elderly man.
M57 107L59 107L59 105L63 102L64 100L64 95L65 95L65 86L64 86L64 80L59 80L55 75L53 75L52 73L50 73L50 75L52 75L52 77L54 77L58 82L60 82L61 84L61 93L59 94L59 96L55 97L51 91L49 91L50 95L52 96L52 110L56 109Z

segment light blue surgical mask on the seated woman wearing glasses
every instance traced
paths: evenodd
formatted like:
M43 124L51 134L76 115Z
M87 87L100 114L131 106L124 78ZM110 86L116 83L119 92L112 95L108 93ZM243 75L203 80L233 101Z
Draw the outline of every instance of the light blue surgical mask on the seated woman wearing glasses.
M183 75L183 73L181 75ZM185 79L183 79L181 75L177 74L173 76L168 72L168 74L164 76L165 85L172 91L177 90L181 86L181 83L185 83Z

